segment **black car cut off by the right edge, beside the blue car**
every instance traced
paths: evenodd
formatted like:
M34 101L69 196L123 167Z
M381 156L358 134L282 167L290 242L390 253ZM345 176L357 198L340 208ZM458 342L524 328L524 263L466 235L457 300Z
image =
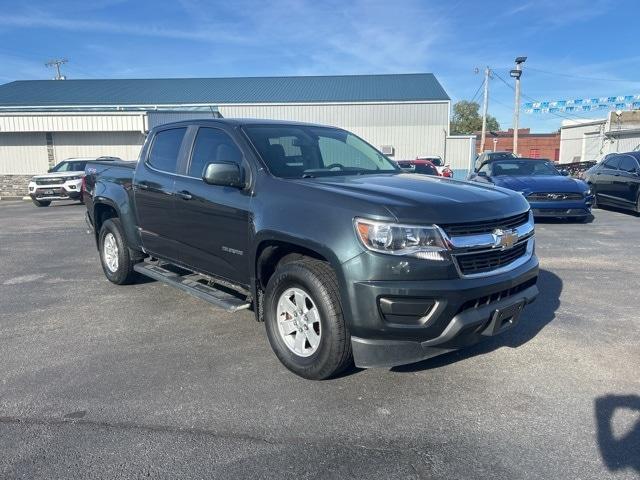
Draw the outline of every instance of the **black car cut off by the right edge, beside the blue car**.
M640 213L640 152L617 153L592 167L585 175L595 204Z

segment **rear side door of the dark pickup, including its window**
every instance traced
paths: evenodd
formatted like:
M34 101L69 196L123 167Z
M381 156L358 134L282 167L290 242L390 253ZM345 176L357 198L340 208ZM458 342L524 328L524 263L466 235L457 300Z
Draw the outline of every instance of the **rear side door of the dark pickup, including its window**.
M142 245L147 252L169 260L177 259L181 237L174 212L174 194L186 133L186 127L156 131L134 178Z

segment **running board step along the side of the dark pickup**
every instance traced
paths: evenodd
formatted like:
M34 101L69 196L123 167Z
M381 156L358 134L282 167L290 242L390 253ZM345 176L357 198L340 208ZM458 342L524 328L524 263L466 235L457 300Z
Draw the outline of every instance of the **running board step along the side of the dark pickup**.
M204 277L198 274L189 272L187 275L180 275L159 265L152 265L146 262L137 263L133 269L146 277L176 287L227 312L237 312L251 306L251 303L246 299L243 300L223 290L201 283L199 280L203 280Z

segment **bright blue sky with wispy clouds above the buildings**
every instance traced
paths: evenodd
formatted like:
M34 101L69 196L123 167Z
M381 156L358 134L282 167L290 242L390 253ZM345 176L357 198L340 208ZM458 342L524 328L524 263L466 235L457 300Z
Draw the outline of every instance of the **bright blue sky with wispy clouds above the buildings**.
M0 12L0 83L52 78L44 62L67 57L69 78L433 72L456 101L480 86L476 67L511 85L525 55L530 98L640 94L637 0L0 0ZM498 76L490 113L508 128L513 91Z

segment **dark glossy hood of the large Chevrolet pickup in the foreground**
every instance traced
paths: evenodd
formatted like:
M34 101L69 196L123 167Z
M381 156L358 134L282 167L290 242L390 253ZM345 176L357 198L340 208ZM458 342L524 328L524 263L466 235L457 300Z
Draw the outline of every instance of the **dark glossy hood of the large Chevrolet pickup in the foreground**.
M297 181L309 188L381 205L397 221L407 223L473 222L517 215L529 209L525 198L510 190L429 175L350 175Z

